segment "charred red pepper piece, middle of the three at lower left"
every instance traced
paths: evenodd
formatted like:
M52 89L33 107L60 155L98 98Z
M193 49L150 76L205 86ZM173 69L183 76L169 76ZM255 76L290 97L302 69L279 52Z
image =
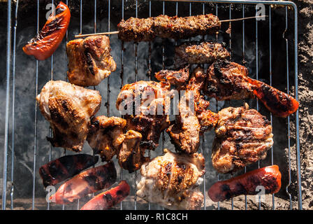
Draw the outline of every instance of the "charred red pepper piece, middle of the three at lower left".
M115 183L117 173L113 162L106 165L87 169L62 184L57 192L50 197L52 202L57 204L67 204L95 193L103 188L109 188Z

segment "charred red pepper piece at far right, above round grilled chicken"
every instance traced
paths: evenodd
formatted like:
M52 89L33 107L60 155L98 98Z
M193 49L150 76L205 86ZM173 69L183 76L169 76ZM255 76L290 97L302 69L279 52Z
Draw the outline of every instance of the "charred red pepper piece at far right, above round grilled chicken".
M289 96L289 94L279 91L275 87L259 80L250 78L249 82L255 86L254 94L256 97L261 100L273 115L286 118L298 110L299 103L296 99Z

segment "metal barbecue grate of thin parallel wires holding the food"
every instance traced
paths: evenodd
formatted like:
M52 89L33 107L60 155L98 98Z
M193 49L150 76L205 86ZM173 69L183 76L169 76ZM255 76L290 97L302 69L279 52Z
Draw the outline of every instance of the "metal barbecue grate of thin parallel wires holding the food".
M122 0L121 4L122 4L122 18L124 19L124 4L125 4L126 0ZM149 16L154 16L152 15L152 7L155 3L159 3L158 1L147 1L148 2L148 9L149 9ZM268 32L269 32L269 37L268 37L268 41L269 41L269 80L270 80L270 85L272 85L272 11L275 10L275 7L272 6L282 6L285 8L284 10L284 22L285 22L285 30L284 30L284 34L282 36L282 38L284 38L286 40L286 90L287 93L289 93L289 70L292 71L292 73L294 73L294 94L295 94L295 98L298 100L298 30L297 30L297 25L298 25L298 18L297 18L297 8L296 8L296 4L293 2L289 2L289 1L217 1L217 0L211 0L211 1L173 1L173 0L167 0L167 1L162 1L162 13L163 15L166 14L166 6L168 6L168 4L170 4L170 6L168 7L175 7L175 13L176 15L179 16L187 16L187 15L181 15L178 11L178 6L181 3L189 3L189 15L192 15L192 9L193 9L193 4L197 4L196 6L202 6L202 11L203 14L205 14L206 12L206 8L208 7L212 7L212 4L214 4L215 7L215 14L219 15L219 7L220 6L228 6L229 7L229 14L228 17L229 19L232 18L232 9L233 6L237 6L240 5L242 7L242 18L245 18L245 9L247 6L254 6L258 3L262 3L267 7L268 10ZM208 6L208 3L210 3L210 6ZM54 4L54 1L52 0L52 4ZM66 0L66 4L69 6L71 6L71 1L68 2L68 0ZM7 23L7 51L6 51L6 116L5 116L5 134L4 134L4 148L3 148L3 188L2 188L2 209L6 209L8 206L6 205L7 203L7 181L8 181L8 174L10 174L10 181L12 184L11 188L10 188L10 209L14 209L14 204L13 204L13 200L14 200L14 169L15 169L15 157L13 155L15 155L15 59L16 59L16 45L17 45L17 41L16 41L16 37L17 37L17 13L19 10L19 1L17 0L15 3L15 17L14 19L11 19L11 1L8 0L8 23ZM37 13L36 13L36 31L39 31L39 10L40 7L40 1L37 0ZM83 16L82 16L82 0L80 0L80 34L82 34L82 25L83 25ZM110 18L111 18L111 2L110 0L108 0L108 27L107 27L107 31L110 31ZM289 25L289 13L293 11L293 18L291 18L291 20L293 20L293 44L292 44L292 49L293 49L293 64L291 67L290 66L290 62L289 62L289 39L285 36L285 33L287 30L291 29L290 25ZM114 13L114 11L112 11ZM134 12L134 15L138 17L138 0L136 0L136 10ZM226 18L225 18L226 19ZM232 22L229 22L229 26L231 27ZM12 38L12 30L11 30L11 25L13 25L13 38ZM242 63L245 62L245 59L247 58L247 55L245 54L245 31L247 27L245 27L245 20L242 20ZM255 52L255 57L256 57L256 79L259 79L259 30L258 30L258 20L256 20L255 22L255 32L256 32L256 36L255 36L255 43L256 43L256 52ZM96 33L97 31L97 1L94 0L94 33ZM232 32L229 33L229 43L228 43L228 48L230 49L230 52L232 52ZM12 38L12 39L11 39ZM68 42L68 31L66 31L66 43ZM205 39L205 36L203 36L203 40ZM216 36L216 40L219 40L219 36L217 34ZM13 42L13 43L12 43ZM125 64L125 49L124 49L124 42L122 41L121 43L121 50L120 50L120 57L121 57L121 62L119 64L119 66L121 67L120 70L120 78L121 78L121 83L120 83L120 87L122 87L125 83L125 74L124 74L124 66L126 66ZM149 58L147 59L147 75L149 80L152 80L152 42L147 43L148 44L148 50L149 50ZM177 44L175 42L175 44ZM13 45L13 49L11 49L11 45ZM134 69L135 69L135 80L138 80L138 43L133 43L133 50L135 52L135 58L134 59L129 59L128 60L133 60L134 63ZM166 54L165 54L165 40L162 40L162 48L161 48L161 55L162 55L162 69L166 68ZM66 54L64 56L66 58ZM49 59L47 60L46 64L48 64ZM67 76L66 76L66 72L67 72L67 63L68 60L66 58L65 62L64 62L64 67L65 67L65 71L64 71L64 80L67 80ZM50 79L53 80L53 75L54 75L54 57L52 55L51 57L51 61L50 61L50 66L51 66L51 70L50 70ZM116 73L112 73L112 76L116 76ZM12 83L10 83L10 81L12 80ZM110 116L110 76L106 79L107 81L107 102L105 104L106 106L106 111L107 111L107 116ZM35 89L35 94L34 97L38 94L38 61L36 60L36 75L35 75L35 80L36 82L36 89ZM105 83L103 81L103 83ZM104 84L101 84L104 85ZM96 90L96 87L94 87L94 89ZM10 94L12 94L12 96L10 96ZM105 96L105 92L101 92L102 96ZM115 96L113 96L114 98ZM104 97L103 97L104 98ZM31 99L34 100L34 99ZM36 103L35 103L36 104ZM232 102L226 102L226 104L228 105L232 105ZM219 111L219 102L216 102L216 111ZM256 100L256 109L259 110L259 102L257 102ZM11 117L11 120L10 120ZM300 139L299 139L299 116L298 116L298 111L296 112L296 116L295 116L295 127L296 127L296 168L297 168L297 180L296 180L296 185L298 187L298 209L302 209L302 196L301 196L301 176L300 176ZM270 113L270 122L271 124L273 123L273 117L272 114ZM11 123L12 125L12 129L11 129L11 133L9 133L9 123ZM289 193L289 186L291 186L291 183L293 183L293 181L291 179L291 119L288 117L287 118L287 123L288 123L288 174L289 174L289 183L286 186L286 193L289 195L289 209L293 209L293 201L292 201L292 195L291 193ZM38 144L37 144L37 137L38 137L38 111L37 111L37 106L34 107L34 160L33 160L33 167L32 167L32 172L33 172L33 179L32 179L32 183L33 183L33 188L32 188L32 203L31 203L31 208L34 209L35 208L35 193L36 193L36 178L38 178L38 176L36 176L36 173L38 173L38 167L40 167L43 164L38 164L38 162L36 161L37 155L38 155ZM275 127L274 127L275 128ZM52 134L52 130L50 129L50 135ZM9 143L9 136L11 136L11 142ZM161 148L164 147L166 138L164 136L164 132L161 135ZM11 161L10 161L10 167L8 167L8 153L10 153L8 151L9 145L11 147ZM205 149L208 149L208 151L210 151L210 147L212 144L206 144L205 143L205 135L203 135L202 138L202 148L201 151L202 153L205 152ZM274 144L275 147L275 144ZM278 150L278 149L277 149ZM159 150L160 151L160 150ZM270 151L270 165L274 164L274 155L273 155L273 151L274 148L271 148ZM66 151L64 150L63 155L66 155ZM149 151L149 155L151 155L150 151ZM49 145L49 151L48 151L48 158L49 161L52 160L52 146ZM53 158L54 159L54 158ZM207 158L208 159L208 158ZM268 164L269 165L269 164ZM258 163L258 167L260 167L260 162ZM206 167L206 169L212 169L211 167ZM245 168L245 172L246 172L246 168ZM122 169L120 170L120 179L124 179L124 172L122 171ZM223 175L217 175L217 180L219 179L223 179L222 177ZM135 172L133 174L133 183L130 183L130 185L133 188L136 188L136 179L138 177L138 172ZM205 176L204 176L205 179ZM203 188L203 195L204 195L204 204L205 202L207 202L209 199L207 197L207 190L208 190L208 186L206 186L205 181L203 181L203 186L201 186ZM135 193L133 194L133 208L137 209L137 197L136 197L136 191L134 191ZM234 200L236 199L231 199L231 209L234 209ZM152 204L147 203L148 204L148 209L152 208ZM80 208L80 202L78 200L77 202L77 209ZM47 209L50 209L50 203L47 203ZM65 209L65 206L62 207L62 209ZM121 202L120 204L120 209L125 209L123 202ZM207 206L203 207L203 209L208 209ZM217 209L220 209L220 203L217 202ZM245 209L248 209L247 206L247 196L245 196ZM259 197L259 209L261 209L261 199ZM272 209L275 209L275 197L274 195L272 195Z

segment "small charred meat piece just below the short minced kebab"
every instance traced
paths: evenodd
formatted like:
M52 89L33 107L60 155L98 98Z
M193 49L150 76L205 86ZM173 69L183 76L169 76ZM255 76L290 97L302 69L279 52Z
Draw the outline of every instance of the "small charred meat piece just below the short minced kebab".
M175 85L176 89L187 83L189 79L189 66L180 70L161 70L155 73L155 78L159 81L167 81L170 85Z

